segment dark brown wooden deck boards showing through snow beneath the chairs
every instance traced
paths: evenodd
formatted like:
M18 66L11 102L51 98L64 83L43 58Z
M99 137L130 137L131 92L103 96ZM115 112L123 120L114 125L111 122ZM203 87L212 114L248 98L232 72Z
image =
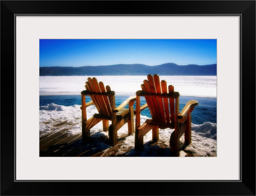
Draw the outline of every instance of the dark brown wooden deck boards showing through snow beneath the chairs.
M41 138L39 141L39 156L65 156L65 157L110 157L110 156L129 156L129 152L133 148L124 149L122 144L127 135L122 135L118 138L118 144L110 148L109 140L106 137L91 137L90 141L83 142L82 134L68 135L67 130L61 130L53 133L46 138ZM94 148L98 143L106 144L106 149ZM161 141L153 143L149 142L147 145L158 145L159 150L157 156L166 156L165 148L168 146ZM104 145L103 145L104 146ZM121 153L120 153L120 149ZM165 152L165 153L164 153Z

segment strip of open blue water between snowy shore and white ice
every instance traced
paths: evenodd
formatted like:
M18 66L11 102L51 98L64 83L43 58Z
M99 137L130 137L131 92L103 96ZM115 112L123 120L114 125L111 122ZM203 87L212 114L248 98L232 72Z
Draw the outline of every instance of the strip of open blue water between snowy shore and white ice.
M116 95L116 106L120 105L129 96ZM204 122L217 123L217 99L208 97L194 97L194 96L180 96L180 111L186 105L189 100L197 100L198 105L191 113L193 124L203 124ZM90 101L90 98L86 97L86 102ZM81 105L81 95L51 95L51 96L39 96L39 106L45 106L47 104L58 104L63 106ZM146 101L141 98L141 105ZM134 104L135 109L135 104ZM141 112L142 115L151 117L149 109L145 109Z

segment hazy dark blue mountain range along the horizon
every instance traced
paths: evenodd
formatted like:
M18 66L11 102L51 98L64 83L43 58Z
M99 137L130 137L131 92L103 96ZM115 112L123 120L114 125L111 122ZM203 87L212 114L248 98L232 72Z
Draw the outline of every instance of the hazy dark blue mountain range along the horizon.
M135 75L178 75L178 76L216 76L217 64L212 65L177 65L165 63L148 66L143 64L118 64L107 66L82 67L40 67L40 76L135 76Z

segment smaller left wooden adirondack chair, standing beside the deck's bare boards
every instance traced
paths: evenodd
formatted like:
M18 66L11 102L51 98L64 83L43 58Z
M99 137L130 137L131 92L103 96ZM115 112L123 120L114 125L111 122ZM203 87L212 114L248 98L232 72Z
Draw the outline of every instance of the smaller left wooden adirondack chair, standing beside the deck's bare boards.
M126 123L128 123L128 134L134 133L134 110L133 104L136 96L130 96L122 104L116 107L115 92L111 91L110 86L106 88L103 82L98 82L97 79L88 78L85 88L81 92L82 95L82 140L90 139L90 129L102 121L103 131L108 131L110 145L118 143L117 131ZM91 101L86 103L86 96L90 96ZM87 119L86 107L94 104L98 110L98 114L94 114L90 119ZM129 108L124 108L129 104ZM112 124L109 126L109 120Z

